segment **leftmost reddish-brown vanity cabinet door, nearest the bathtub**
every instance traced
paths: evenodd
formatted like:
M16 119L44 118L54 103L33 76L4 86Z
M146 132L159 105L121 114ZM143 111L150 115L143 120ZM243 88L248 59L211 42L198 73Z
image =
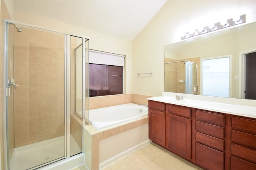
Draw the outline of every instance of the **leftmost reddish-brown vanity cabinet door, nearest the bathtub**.
M165 112L148 109L149 139L165 146Z

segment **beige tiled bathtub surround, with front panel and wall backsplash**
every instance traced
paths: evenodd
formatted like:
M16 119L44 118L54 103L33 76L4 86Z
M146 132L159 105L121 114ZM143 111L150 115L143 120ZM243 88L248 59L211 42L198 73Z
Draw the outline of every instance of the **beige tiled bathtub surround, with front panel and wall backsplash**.
M90 109L127 103L147 105L147 97L150 96L124 94L90 98ZM148 140L148 115L104 131L98 131L91 124L84 125L83 133L85 163L89 170L104 168L117 159L150 143Z

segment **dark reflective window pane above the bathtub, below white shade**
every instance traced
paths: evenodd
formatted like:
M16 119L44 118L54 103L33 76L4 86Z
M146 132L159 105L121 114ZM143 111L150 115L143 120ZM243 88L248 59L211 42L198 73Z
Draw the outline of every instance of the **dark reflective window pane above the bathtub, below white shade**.
M90 97L123 94L123 67L89 64Z

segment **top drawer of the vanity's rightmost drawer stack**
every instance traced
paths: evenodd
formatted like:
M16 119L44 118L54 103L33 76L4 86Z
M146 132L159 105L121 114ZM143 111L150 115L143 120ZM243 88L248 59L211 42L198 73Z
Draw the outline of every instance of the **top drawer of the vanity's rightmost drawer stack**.
M256 133L256 120L231 117L231 127Z

